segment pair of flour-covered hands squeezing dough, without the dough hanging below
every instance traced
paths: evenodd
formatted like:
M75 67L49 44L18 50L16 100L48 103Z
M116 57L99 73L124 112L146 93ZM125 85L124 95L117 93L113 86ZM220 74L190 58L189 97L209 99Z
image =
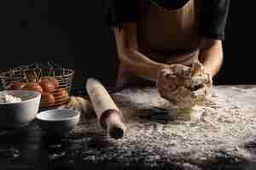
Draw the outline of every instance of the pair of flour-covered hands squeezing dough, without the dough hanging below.
M204 94L212 94L212 76L200 62L186 65L170 65L163 68L158 76L156 87L160 96L177 104L179 88L187 88L191 92L203 90Z

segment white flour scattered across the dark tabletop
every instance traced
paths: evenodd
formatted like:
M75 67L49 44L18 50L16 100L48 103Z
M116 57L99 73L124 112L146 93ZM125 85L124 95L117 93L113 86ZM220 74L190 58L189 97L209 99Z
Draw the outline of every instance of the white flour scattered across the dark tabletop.
M77 149L71 150L77 150L79 157L95 156L94 161L141 161L148 165L169 162L201 167L214 162L217 165L219 161L228 164L253 160L256 157L255 89L214 87L212 99L201 108L200 119L189 122L160 122L158 119L163 116L160 111L165 112L170 105L155 88L125 89L113 94L125 115L125 138L99 137L96 139L102 145L90 147L90 140L96 144L92 134L105 133L91 120L73 131L74 136L81 134L88 142L81 142ZM147 114L151 117L144 118Z

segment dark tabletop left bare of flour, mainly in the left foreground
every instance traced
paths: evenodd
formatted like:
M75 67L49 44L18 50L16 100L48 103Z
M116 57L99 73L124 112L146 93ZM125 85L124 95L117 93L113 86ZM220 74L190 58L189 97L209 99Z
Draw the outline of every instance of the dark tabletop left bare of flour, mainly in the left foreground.
M241 94L244 94L242 90L254 89L256 86L219 86L218 89L224 90L229 88L230 92L238 92L241 89ZM234 88L235 87L235 88ZM228 90L228 91L229 91ZM238 91L237 91L238 90ZM227 95L230 95L230 92ZM256 91L255 91L256 92ZM122 92L120 93L122 94ZM247 99L251 98L250 95L244 95ZM255 100L256 104L256 100ZM256 123L256 122L255 122ZM157 126L154 124L154 127ZM102 161L97 161L96 157L108 153L109 148L115 147L112 144L113 140L108 140L106 136L101 136L102 134L89 134L94 136L90 140L83 136L83 133L79 133L73 138L60 139L49 136L44 133L36 124L32 122L26 127L20 127L19 129L1 130L0 131L0 169L1 170L25 170L25 169L145 169L140 160L136 160L139 151L128 150L131 152L129 160L132 163L129 166L125 166L124 162L119 163L118 158L120 156L126 156L125 151L120 152L118 157L115 156L114 159L102 159ZM153 133L154 134L154 133ZM149 138L149 137L148 137ZM254 138L254 137L253 137ZM104 140L102 140L104 139ZM154 139L154 138L153 138ZM114 143L114 142L113 142ZM86 149L84 149L84 144L86 144ZM250 150L252 153L256 150L256 140L255 143L250 143ZM136 145L136 144L135 144ZM145 146L146 147L146 146ZM90 148L93 150L90 151ZM163 149L164 150L164 149ZM83 153L86 152L86 156ZM142 152L143 153L143 149ZM149 152L148 152L149 153ZM256 153L256 152L255 152ZM164 155L165 153L163 153ZM142 156L142 155L140 155ZM145 156L147 157L147 156ZM239 164L232 166L228 163L224 166L224 161L222 162L211 162L207 165L205 163L203 166L196 167L183 167L178 166L177 163L166 162L169 169L249 169L251 166L251 161L246 161L245 164L241 166ZM167 165L166 164L166 165ZM219 165L219 166L218 166ZM90 168L89 168L90 167ZM166 167L163 165L162 167ZM251 166L252 167L252 166ZM147 167L149 168L149 167ZM154 167L150 167L153 168ZM167 167L166 167L167 168ZM254 167L256 168L256 167Z

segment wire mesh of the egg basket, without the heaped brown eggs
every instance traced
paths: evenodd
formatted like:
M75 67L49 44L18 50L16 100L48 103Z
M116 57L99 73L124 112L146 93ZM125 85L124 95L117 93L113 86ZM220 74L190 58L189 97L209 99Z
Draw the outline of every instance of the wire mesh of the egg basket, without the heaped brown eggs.
M59 82L58 88L52 94L55 96L55 102L49 105L43 105L40 103L40 110L55 109L60 105L67 103L69 94L72 90L74 71L71 69L62 68L54 62L45 63L33 63L31 65L20 65L9 71L5 71L0 74L0 79L4 90L9 89L12 82L28 82L29 77L54 77ZM67 95L58 96L65 92Z

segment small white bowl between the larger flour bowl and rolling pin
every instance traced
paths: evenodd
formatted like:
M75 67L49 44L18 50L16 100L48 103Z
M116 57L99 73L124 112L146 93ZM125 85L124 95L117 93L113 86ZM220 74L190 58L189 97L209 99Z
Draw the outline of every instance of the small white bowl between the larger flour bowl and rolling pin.
M41 111L37 115L38 126L46 133L65 137L77 126L80 112L70 109Z

